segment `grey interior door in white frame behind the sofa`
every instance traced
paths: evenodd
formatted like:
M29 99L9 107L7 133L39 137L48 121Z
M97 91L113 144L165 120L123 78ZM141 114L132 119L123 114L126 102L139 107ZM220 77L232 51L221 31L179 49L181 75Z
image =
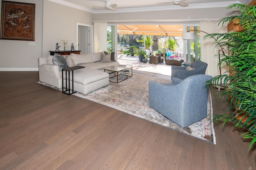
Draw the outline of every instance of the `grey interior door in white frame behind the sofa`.
M90 53L90 27L78 25L78 50L80 54Z

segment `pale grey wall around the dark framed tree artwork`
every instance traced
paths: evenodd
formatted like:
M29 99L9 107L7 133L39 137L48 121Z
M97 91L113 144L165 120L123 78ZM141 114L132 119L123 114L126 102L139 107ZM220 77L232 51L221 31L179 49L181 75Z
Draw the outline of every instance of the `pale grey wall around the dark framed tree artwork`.
M17 2L17 0L8 0ZM35 41L0 39L0 71L38 70L38 57L42 56L42 0L18 0L36 4ZM2 0L1 0L2 4ZM28 45L35 42L36 45Z

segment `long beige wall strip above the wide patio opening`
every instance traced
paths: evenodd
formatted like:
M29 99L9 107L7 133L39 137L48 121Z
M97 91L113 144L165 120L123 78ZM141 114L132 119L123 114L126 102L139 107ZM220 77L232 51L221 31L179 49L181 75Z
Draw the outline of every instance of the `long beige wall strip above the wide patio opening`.
M212 20L216 21L225 16L231 16L232 10L226 10L224 7L220 8L199 8L179 10L162 10L162 11L146 11L146 12L124 12L124 13L106 13L95 14L93 20L100 21L199 21Z

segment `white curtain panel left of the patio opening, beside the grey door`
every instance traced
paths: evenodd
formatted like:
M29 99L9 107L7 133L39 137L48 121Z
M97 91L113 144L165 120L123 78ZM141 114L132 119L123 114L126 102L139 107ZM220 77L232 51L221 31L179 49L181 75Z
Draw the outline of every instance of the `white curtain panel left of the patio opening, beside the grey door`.
M94 22L94 53L107 51L107 22Z

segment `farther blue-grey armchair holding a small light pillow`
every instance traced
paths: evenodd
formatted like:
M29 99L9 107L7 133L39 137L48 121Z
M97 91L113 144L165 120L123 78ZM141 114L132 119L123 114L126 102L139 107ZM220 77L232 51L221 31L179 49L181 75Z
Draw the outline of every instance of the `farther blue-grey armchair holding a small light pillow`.
M179 79L185 79L188 76L193 76L196 74L205 74L207 63L204 63L202 61L195 61L194 63L188 65L191 68L194 68L193 70L186 70L188 66L172 66L172 77L176 77Z

